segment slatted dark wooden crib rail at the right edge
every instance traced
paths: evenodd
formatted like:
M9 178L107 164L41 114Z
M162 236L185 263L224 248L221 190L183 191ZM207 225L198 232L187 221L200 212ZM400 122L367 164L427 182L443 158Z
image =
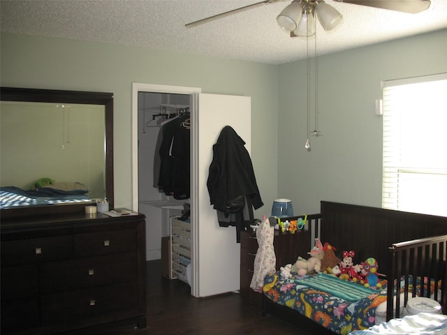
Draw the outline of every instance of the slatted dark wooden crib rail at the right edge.
M388 250L386 320L402 317L400 308L416 295L441 301L445 313L447 234L392 244ZM404 278L403 283L400 278ZM409 278L413 281L411 290ZM416 282L420 283L420 292L417 292ZM402 290L403 301L399 293Z

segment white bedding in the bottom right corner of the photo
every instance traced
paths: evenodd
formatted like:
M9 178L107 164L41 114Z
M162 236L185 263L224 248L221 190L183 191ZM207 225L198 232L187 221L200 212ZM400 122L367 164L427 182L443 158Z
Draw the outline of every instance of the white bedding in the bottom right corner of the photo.
M447 335L447 315L419 313L382 322L349 335Z

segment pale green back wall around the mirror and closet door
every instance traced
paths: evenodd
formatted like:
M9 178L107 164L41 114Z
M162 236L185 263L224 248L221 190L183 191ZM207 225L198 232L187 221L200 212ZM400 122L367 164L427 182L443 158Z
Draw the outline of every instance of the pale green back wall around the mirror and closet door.
M251 158L270 212L277 194L277 66L105 43L1 34L1 86L115 94L115 206L132 206L131 84L251 96Z

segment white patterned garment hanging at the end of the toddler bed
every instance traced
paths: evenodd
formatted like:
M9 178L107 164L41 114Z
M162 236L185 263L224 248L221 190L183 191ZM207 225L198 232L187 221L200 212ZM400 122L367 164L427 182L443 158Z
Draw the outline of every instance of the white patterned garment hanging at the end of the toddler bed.
M274 225L270 223L268 218L256 228L256 238L258 240L258 251L256 251L254 258L250 288L256 292L262 292L265 275L276 271L277 262L273 247Z

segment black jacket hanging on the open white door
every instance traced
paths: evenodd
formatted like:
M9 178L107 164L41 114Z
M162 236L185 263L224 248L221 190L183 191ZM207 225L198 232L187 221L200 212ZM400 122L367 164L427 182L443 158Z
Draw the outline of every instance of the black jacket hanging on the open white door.
M253 220L251 207L258 209L263 206L251 158L244 146L244 140L233 128L223 127L213 145L213 158L207 180L210 202L218 211L219 225L236 226L238 242L240 230ZM233 216L225 215L228 213L228 204L241 195L245 199L244 209Z

